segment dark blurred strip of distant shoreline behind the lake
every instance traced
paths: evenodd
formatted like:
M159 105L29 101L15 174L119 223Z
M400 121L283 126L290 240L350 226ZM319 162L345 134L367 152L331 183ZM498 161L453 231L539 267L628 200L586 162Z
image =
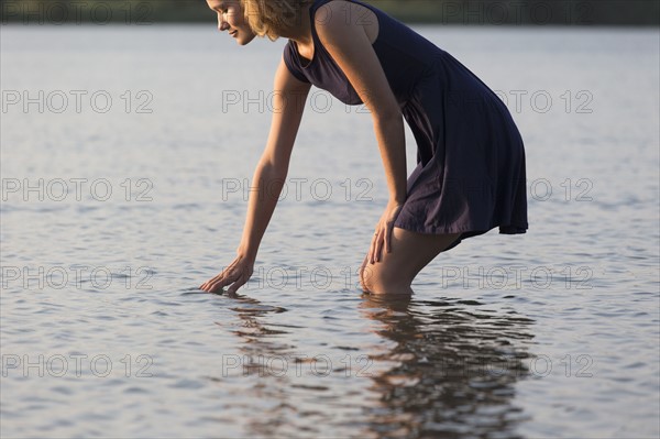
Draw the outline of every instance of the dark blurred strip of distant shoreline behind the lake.
M660 26L660 0L372 0L410 24ZM3 0L2 24L215 23L204 0Z

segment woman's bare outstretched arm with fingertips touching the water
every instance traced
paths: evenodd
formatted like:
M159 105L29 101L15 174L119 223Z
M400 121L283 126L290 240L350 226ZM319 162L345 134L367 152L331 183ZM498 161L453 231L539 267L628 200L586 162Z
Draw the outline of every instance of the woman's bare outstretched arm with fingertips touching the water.
M290 74L284 61L279 63L275 74L271 133L254 171L248 217L237 257L217 276L205 282L200 289L219 293L229 285L228 293L235 294L252 276L261 240L286 180L309 89L309 84L296 79Z

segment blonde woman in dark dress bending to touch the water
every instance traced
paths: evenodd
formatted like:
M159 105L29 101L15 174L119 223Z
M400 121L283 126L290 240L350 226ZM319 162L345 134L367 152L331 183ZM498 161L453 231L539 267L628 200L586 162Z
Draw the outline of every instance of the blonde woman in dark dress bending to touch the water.
M413 293L413 279L462 239L499 227L525 233L522 140L504 103L468 68L409 28L354 0L207 0L218 29L241 45L286 37L275 74L271 133L253 182L286 178L307 94L315 85L344 103L364 103L389 201L361 268L374 294ZM406 179L404 119L418 166ZM279 183L278 183L279 182ZM277 190L275 190L276 193ZM235 260L200 286L234 294L253 272L277 195L251 197Z

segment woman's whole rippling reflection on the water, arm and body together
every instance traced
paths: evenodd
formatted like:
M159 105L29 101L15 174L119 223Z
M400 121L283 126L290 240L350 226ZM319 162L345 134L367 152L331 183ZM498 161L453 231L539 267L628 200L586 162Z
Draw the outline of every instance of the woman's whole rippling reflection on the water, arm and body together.
M532 320L474 301L365 295L359 304L355 311L367 320L346 319L336 329L369 334L369 343L352 348L356 370L334 367L320 377L309 374L309 364L301 367L307 373L294 370L305 347L293 344L292 333L314 331L306 320L285 320L278 315L287 309L254 298L232 298L238 320L218 325L240 339L237 367L211 378L232 400L223 421L240 421L250 437L517 436L527 417L514 405L515 385L529 375ZM315 342L345 355L342 337ZM369 367L358 361L366 356Z

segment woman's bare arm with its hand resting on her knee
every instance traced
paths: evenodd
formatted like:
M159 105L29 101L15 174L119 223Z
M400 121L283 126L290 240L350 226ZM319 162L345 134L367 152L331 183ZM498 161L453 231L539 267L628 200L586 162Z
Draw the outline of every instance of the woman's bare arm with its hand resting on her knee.
M387 252L392 251L394 222L406 200L404 118L365 26L358 20L346 20L352 14L346 15L344 2L330 2L322 8L328 10L324 20L316 23L317 34L371 111L387 178L389 200L367 255L373 264L381 260L383 246Z

